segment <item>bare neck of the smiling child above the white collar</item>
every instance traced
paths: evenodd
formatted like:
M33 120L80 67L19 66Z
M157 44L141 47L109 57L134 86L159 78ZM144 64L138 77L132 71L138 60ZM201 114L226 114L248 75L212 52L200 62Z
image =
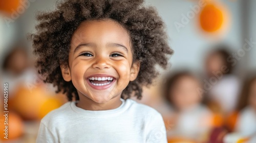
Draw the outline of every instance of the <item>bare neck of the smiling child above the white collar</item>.
M92 110L92 111L111 110L111 109L118 108L122 104L122 101L120 100L120 98L121 98L121 94L116 96L115 98L112 98L110 101L106 103L96 103L86 96L79 96L79 101L76 104L76 106L84 110Z

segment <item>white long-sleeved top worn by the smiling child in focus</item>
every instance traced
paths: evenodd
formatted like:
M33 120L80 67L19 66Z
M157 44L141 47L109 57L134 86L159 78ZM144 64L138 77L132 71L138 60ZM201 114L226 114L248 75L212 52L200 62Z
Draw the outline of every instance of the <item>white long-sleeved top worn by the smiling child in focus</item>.
M166 143L161 114L131 99L111 110L84 110L68 102L42 118L36 142Z

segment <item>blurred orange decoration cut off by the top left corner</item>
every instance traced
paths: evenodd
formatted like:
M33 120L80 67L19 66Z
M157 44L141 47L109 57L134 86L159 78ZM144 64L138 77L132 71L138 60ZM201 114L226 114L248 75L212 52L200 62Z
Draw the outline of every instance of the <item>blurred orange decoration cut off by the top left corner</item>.
M11 14L13 11L16 11L20 5L20 0L1 0L0 1L0 11Z

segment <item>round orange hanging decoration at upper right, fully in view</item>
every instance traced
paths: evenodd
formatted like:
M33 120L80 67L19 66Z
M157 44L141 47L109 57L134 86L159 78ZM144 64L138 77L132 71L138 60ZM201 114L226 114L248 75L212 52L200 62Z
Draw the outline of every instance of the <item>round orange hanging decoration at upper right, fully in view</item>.
M200 26L206 32L216 32L223 25L223 11L214 4L207 4L200 13Z

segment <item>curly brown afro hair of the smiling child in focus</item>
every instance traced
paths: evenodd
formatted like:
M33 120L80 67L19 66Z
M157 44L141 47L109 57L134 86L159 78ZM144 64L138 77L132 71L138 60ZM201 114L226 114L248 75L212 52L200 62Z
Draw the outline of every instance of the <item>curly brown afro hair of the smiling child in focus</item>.
M67 0L57 4L55 11L36 15L36 33L30 34L36 56L38 73L44 82L53 83L67 93L68 100L79 100L72 81L66 82L60 65L67 64L71 38L84 20L112 19L129 33L133 47L133 61L140 62L135 81L123 90L121 98L127 99L134 92L141 99L142 86L152 84L158 76L155 65L166 68L168 55L173 54L167 42L164 23L153 7L143 7L143 0Z

